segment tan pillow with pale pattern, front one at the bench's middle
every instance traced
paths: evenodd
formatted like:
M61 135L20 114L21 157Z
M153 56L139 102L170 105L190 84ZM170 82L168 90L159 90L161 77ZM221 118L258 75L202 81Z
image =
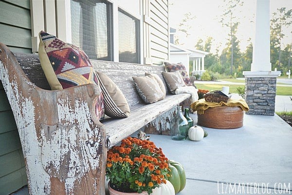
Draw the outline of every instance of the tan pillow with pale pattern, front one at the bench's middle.
M161 91L158 82L154 76L132 77L140 97L147 104L164 99L164 93Z

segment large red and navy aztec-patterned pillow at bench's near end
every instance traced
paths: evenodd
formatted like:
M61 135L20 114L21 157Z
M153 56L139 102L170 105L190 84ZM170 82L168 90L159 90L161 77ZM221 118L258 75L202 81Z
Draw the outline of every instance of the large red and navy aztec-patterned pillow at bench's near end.
M91 62L82 49L44 31L39 32L39 39L39 60L52 90L87 83L99 86ZM104 118L104 99L101 90L96 101L95 113L100 120Z

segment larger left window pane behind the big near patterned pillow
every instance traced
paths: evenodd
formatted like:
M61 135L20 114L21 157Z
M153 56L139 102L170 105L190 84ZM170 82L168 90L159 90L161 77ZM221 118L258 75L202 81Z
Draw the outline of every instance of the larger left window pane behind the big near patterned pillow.
M72 43L90 59L113 59L111 13L107 1L71 0Z

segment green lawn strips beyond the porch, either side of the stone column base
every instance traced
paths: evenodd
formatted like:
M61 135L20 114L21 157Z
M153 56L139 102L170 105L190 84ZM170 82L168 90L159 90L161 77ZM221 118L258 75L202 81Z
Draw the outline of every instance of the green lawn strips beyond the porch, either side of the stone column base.
M197 84L198 89L206 89L209 91L221 90L226 84ZM227 85L228 86L228 85ZM237 87L243 87L244 85L229 85L229 93L237 93ZM276 95L280 96L292 96L292 87L277 86Z

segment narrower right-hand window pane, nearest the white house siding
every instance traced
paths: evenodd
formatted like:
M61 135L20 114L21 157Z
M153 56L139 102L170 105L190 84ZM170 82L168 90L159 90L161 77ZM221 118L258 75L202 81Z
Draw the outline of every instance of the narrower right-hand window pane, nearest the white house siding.
M139 63L139 20L119 9L119 61Z

